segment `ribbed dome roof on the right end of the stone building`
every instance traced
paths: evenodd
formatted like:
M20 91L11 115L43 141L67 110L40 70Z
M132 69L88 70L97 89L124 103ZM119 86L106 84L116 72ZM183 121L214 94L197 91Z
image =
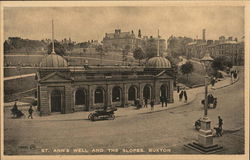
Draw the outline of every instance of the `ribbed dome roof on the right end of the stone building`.
M171 63L164 57L153 57L150 58L146 64L147 68L171 68Z

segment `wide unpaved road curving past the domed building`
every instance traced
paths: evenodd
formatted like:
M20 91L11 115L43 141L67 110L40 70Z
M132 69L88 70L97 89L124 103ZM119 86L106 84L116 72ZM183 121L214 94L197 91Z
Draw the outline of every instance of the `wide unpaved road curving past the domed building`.
M219 154L243 153L242 72L238 82L215 90L213 94L218 98L218 106L208 112L212 120L211 126L216 125L218 115L224 121L223 137L214 138L215 143L224 146L224 150ZM70 149L70 153L60 154L95 154L90 152L92 148L105 151L118 148L118 154L134 154L129 149L138 149L138 154L148 154L147 149L154 148L168 149L167 152L155 154L198 154L183 145L197 139L198 132L194 130L193 123L203 115L200 104L203 97L203 94L199 94L197 99L188 105L161 112L120 116L115 120L96 122L87 120L87 112L55 114L30 120L11 119L9 111L6 110L5 153L58 154L58 150L53 149ZM35 145L36 149L25 148L30 145ZM41 148L48 149L49 152L42 153ZM84 148L89 152L72 152L75 148Z

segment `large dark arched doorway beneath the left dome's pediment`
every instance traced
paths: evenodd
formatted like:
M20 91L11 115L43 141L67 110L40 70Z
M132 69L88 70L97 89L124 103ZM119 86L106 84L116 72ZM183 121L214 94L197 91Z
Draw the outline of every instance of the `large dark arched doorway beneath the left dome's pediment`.
M59 90L51 92L51 112L61 112L62 94Z

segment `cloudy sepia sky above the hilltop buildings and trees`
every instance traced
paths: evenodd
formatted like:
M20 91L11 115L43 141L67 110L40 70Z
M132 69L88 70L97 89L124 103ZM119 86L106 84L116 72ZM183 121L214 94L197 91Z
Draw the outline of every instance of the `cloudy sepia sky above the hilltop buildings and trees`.
M4 39L22 37L41 40L51 38L54 19L55 39L101 41L115 29L142 35L202 38L244 35L244 8L239 6L128 6L128 7L6 7Z

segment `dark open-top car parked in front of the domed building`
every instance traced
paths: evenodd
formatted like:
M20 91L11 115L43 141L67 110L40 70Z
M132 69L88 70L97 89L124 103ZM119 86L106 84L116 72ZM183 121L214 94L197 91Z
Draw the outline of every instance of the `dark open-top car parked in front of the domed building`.
M117 108L96 110L94 113L90 113L88 119L91 121L96 121L98 119L115 119L114 112L117 111Z

